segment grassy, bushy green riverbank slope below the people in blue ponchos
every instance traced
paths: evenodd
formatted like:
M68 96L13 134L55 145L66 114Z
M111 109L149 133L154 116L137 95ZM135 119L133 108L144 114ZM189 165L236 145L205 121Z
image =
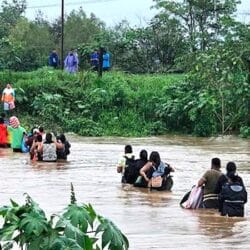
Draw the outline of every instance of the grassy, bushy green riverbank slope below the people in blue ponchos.
M201 112L199 103L192 105L199 90L191 89L184 77L109 72L100 79L92 72L69 75L44 68L0 72L0 87L13 84L15 112L28 127L84 136L218 133L209 107Z

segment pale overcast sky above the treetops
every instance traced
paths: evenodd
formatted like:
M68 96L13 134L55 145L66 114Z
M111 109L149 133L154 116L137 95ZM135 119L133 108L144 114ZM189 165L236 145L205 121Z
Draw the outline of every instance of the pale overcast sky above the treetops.
M154 5L153 0L64 0L64 2L66 13L82 6L87 14L94 13L109 26L122 19L127 19L132 25L143 25L156 13L155 9L151 9ZM247 22L250 20L250 15L243 13L250 12L250 0L241 2L239 18ZM59 17L61 13L61 0L27 0L27 4L26 16L29 19L34 19L39 9L49 20Z

